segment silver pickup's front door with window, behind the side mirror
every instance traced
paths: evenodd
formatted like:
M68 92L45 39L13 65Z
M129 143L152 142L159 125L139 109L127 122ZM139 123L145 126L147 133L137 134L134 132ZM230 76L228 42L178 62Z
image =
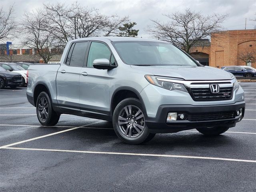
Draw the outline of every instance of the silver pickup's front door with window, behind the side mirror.
M95 59L108 59L115 64L114 56L103 42L91 42L86 66L81 71L79 91L82 114L98 118L108 118L110 110L110 80L112 70L93 67Z

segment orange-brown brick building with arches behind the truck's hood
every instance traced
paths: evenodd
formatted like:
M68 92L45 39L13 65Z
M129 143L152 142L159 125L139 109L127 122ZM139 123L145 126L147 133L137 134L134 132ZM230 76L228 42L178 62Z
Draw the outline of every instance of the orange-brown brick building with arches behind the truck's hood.
M238 57L248 53L256 53L256 30L230 30L214 33L211 36L210 46L207 43L202 46L199 44L190 51L191 56L200 62L208 58L208 64L204 62L202 64L218 68L246 65L246 62ZM256 68L256 62L248 62L247 65Z

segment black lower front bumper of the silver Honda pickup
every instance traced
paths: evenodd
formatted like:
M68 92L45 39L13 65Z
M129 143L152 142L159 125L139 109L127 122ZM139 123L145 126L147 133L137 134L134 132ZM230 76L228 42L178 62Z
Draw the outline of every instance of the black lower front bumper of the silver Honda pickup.
M190 120L176 120L166 123L168 112L183 112L186 115L196 116L197 114L212 114L223 112L235 112L242 108L242 115L235 116L231 119L205 120L205 121L190 121ZM146 124L152 133L172 133L182 130L189 130L194 128L226 126L234 127L236 122L239 122L244 117L245 102L236 102L228 105L213 105L213 106L192 106L192 105L161 105L155 118L146 118Z

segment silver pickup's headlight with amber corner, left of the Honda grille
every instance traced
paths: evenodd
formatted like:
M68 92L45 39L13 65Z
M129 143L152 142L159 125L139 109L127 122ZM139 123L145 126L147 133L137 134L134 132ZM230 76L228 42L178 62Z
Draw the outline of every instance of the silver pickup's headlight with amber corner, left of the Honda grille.
M188 92L188 90L186 90L186 88L185 88L185 86L183 84L175 83L175 82L170 82L170 81L172 81L171 79L157 78L154 75L145 75L145 78L151 84L156 85L158 87L162 87L164 89L180 90L180 91Z

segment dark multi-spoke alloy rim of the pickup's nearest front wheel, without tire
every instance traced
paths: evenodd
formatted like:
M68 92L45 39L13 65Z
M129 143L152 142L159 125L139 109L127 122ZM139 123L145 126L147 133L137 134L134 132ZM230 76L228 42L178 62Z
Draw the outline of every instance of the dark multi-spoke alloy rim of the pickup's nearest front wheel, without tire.
M145 128L145 117L138 107L128 105L118 115L118 126L122 134L129 138L139 136Z

